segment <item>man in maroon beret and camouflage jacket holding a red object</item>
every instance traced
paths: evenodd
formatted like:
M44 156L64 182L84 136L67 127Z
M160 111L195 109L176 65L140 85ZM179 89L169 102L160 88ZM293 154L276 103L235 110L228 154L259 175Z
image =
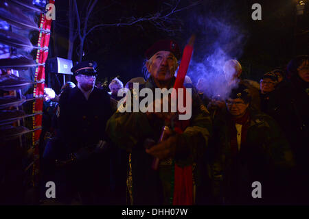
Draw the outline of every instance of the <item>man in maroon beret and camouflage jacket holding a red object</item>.
M146 51L146 57L149 77L139 89L149 88L154 92L155 88L173 88L176 79L174 74L181 57L178 44L173 40L161 40ZM130 175L128 181L133 183L128 187L133 188L130 190L133 192L133 205L171 205L174 192L177 192L174 190L177 181L174 178L174 165L195 166L205 153L211 120L198 94L192 96L190 125L183 133L175 133L171 127L169 138L157 144L165 120L170 115L169 112L121 113L117 110L108 120L106 130L111 140L130 152L132 181ZM152 146L149 147L151 142ZM160 159L158 170L151 168L154 158ZM201 184L195 173L195 183ZM187 177L192 179L192 175ZM188 192L194 194L194 191ZM188 200L189 203L194 203L193 199L194 196Z

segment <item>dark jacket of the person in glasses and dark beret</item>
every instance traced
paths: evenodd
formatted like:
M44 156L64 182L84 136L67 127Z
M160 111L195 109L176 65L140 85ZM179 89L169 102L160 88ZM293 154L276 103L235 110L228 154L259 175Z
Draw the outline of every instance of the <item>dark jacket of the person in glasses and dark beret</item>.
M269 204L278 201L280 193L277 189L282 188L280 185L284 184L284 177L295 165L282 131L271 116L250 112L246 141L241 144L237 159L232 159L230 119L228 114L222 113L214 121L214 192L225 198L228 204ZM262 184L261 199L251 196L254 181Z

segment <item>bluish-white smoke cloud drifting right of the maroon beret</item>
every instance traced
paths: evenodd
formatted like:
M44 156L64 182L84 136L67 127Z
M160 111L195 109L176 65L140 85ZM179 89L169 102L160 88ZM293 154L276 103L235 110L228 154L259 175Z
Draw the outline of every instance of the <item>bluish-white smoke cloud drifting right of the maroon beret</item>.
M194 58L190 63L187 75L192 78L198 90L208 97L220 95L226 99L231 91L227 86L223 66L227 60L238 60L246 41L240 27L223 18L199 18L203 47L194 47Z

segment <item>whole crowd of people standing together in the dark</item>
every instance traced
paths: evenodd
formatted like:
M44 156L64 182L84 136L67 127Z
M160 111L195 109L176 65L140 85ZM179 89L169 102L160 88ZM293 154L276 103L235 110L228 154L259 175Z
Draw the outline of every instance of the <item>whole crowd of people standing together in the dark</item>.
M77 84L66 83L58 96L45 88L43 200L45 182L54 181L56 200L67 205L309 203L308 55L265 73L259 83L242 79L240 62L227 60L222 72L229 92L223 96L207 96L186 77L184 87L193 90L190 120L117 110L119 90L133 91L136 99L133 83L152 91L173 88L178 44L161 40L145 55L149 77L125 86L115 78L111 94L95 85L93 61L74 66ZM258 198L254 182L262 187Z

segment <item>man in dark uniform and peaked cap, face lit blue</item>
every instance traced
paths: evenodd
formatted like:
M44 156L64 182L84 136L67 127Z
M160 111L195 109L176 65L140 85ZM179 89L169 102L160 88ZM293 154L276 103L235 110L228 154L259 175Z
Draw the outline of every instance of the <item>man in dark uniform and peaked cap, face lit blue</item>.
M112 110L108 94L95 87L96 66L93 61L73 66L78 84L62 92L59 100L59 133L65 154L58 157L56 166L67 178L59 197L70 202L78 193L86 205L106 203L109 188L105 125Z

